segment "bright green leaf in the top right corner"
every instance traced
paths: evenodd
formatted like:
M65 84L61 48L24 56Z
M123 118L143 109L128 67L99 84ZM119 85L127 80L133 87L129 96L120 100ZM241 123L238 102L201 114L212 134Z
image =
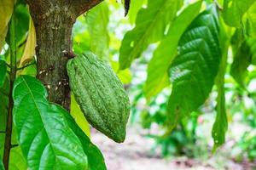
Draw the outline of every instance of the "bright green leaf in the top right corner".
M229 26L241 27L242 16L255 0L224 0L224 21Z

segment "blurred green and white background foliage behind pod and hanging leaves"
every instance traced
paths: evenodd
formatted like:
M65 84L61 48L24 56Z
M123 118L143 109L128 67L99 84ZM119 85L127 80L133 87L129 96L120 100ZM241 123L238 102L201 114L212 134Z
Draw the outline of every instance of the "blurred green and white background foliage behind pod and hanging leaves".
M177 7L177 14L179 14L183 8L194 2L196 1L185 0L182 7ZM30 26L31 18L29 16L29 9L22 0L19 0L17 3L17 8L15 8L15 14L18 17L16 27L19 28L17 29L17 61L18 65L22 66L33 62L33 57L28 60L24 58L34 53L25 49L33 49L35 43L29 42L29 35L34 33L32 26ZM207 7L207 3L212 3L212 1L205 1L202 5L202 9ZM224 2L220 0L218 3L221 6L220 8L223 8L222 4L224 4ZM213 87L210 97L198 111L194 111L189 117L180 119L177 123L177 127L170 132L166 103L172 92L172 86L165 86L166 88L160 90L160 93L156 92L154 95L150 96L150 98L146 96L147 92L145 92L148 63L150 59L152 59L154 50L160 44L160 41L149 43L150 45L143 50L141 57L136 59L130 68L119 70L119 48L121 47L122 40L125 37L125 33L136 26L138 11L146 7L146 0L131 0L131 10L128 16L124 17L122 3L117 3L116 0L104 1L96 6L96 8L91 9L88 13L78 18L73 27L73 50L76 54L83 53L84 50L91 50L98 56L102 56L103 60L106 60L112 65L113 70L116 71L120 80L125 84L125 88L130 95L131 119L129 126L142 127L144 129L144 131L142 131L143 136L154 140L154 145L151 150L152 154L160 152L163 157L189 156L207 159L207 156L212 156L212 148L214 145L211 132L217 114L215 110L217 105L216 98L218 96L217 87ZM255 12L255 7L256 4L254 3L249 10ZM254 17L253 12L247 13L246 15L250 15L247 17ZM247 29L242 30L246 30L247 34L253 34L252 23L250 23L247 18L243 18L243 20L245 20L247 24ZM236 25L236 23L230 24ZM256 55L256 53L254 53L256 49L254 47L255 37L247 38L242 48L236 48L236 42L241 37L241 35L239 35L239 29L236 31L233 29L229 33L232 33L230 36L236 37L233 38L234 41L231 40L231 45L235 48L232 50L230 47L229 49L227 71L224 75L224 95L229 127L226 133L226 143L218 151L224 152L230 159L236 161L246 160L255 162L256 70L253 65L256 63L256 57L254 57ZM6 40L7 43L3 46L0 59L9 62L9 35L7 35ZM251 51L247 49L248 44L251 47ZM250 59L235 59L233 56L237 55L239 57L239 53L240 55L250 53L247 55ZM26 62L22 63L24 60ZM242 68L239 67L241 70L239 70L240 72L237 74L236 65L241 65L241 63L243 63ZM241 72L242 74L240 74ZM36 66L30 65L26 67L26 69L21 70L19 74L34 76L37 74ZM8 81L7 78L6 82ZM3 89L7 90L8 88ZM6 108L5 105L8 103L5 98L5 90L0 90L0 111L4 111ZM75 108L75 106L73 106L73 108ZM79 112L78 110L78 108L74 109L73 112ZM4 114L0 114L0 116L4 116ZM73 116L79 117L79 114ZM5 120L5 118L1 117L0 120ZM80 127L83 126L84 122L86 122L86 120L78 122ZM3 131L4 122L0 125L0 131ZM85 133L89 134L88 127L82 128ZM3 134L0 134L0 138L3 138ZM0 144L0 148L2 153L3 144ZM12 156L16 156L16 159L11 160L24 161L23 159L18 159L20 148L18 147L15 150L16 151L12 152ZM17 162L15 166L17 166ZM14 169L20 168L14 167Z

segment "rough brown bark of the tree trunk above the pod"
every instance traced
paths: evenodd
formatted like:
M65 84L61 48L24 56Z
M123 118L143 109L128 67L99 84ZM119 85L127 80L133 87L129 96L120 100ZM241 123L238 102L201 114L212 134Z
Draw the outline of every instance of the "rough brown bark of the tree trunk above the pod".
M66 71L72 51L72 28L80 14L102 0L26 0L37 34L38 79L48 89L49 101L69 110L70 88Z

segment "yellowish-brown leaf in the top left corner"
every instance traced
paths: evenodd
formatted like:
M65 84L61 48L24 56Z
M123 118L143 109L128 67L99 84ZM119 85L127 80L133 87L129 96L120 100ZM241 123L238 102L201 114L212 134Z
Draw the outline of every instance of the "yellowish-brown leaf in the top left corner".
M13 14L14 5L14 0L0 0L0 52L3 48L5 36L8 31L8 23Z

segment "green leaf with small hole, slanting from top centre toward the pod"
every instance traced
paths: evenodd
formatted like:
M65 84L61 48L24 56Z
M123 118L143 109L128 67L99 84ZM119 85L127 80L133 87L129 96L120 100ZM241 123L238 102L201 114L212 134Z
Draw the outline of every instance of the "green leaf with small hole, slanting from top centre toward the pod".
M125 34L120 48L119 70L128 68L150 43L164 36L166 26L174 19L182 3L183 0L148 1L148 8L142 8L137 14L136 27Z

